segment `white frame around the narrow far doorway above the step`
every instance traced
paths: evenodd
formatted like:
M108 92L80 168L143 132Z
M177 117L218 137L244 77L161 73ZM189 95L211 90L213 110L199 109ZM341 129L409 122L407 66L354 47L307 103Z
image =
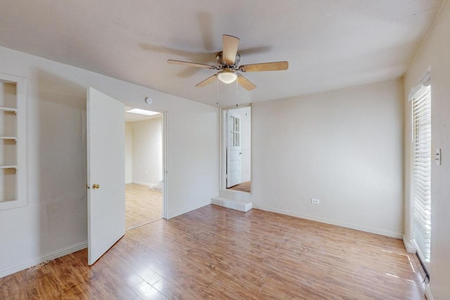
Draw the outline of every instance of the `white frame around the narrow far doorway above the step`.
M251 104L239 105L239 107L219 107L219 191L226 190L226 112L229 110L237 110L239 108L252 107ZM251 109L251 108L250 108ZM252 117L253 118L253 117ZM250 120L251 121L251 120ZM250 127L252 127L252 121ZM250 128L250 137L252 140L252 147L250 148L250 178L253 178L253 130ZM239 192L239 191L236 191ZM246 193L246 192L239 192Z

